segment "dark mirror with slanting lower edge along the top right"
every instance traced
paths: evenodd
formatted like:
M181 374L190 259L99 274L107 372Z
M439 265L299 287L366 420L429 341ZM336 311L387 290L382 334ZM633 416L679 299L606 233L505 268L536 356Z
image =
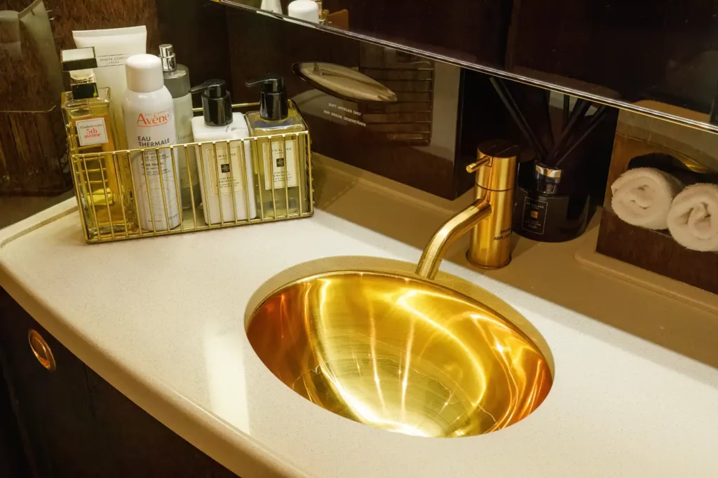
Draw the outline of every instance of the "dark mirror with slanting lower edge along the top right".
M715 2L324 0L314 24L286 0L215 1L718 131Z

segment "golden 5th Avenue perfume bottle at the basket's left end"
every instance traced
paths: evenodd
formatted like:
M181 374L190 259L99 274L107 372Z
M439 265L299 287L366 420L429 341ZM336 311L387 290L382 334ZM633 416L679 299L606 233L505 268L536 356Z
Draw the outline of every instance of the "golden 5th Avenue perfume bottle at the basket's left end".
M98 88L93 68L97 67L92 47L62 51L62 70L70 74L70 91L62 93L62 113L72 154L110 153L115 150L115 128L110 108L110 91ZM80 206L87 212L90 236L125 233L134 223L124 189L122 159L113 154L79 159L75 184Z

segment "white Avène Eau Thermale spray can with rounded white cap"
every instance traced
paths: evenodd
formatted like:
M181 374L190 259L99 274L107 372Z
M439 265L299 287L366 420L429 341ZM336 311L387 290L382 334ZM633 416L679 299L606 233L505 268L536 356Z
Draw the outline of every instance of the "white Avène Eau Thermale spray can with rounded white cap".
M162 62L154 55L129 57L125 72L127 91L122 112L128 147L159 148L157 152L130 153L140 227L146 231L170 230L182 220L177 200L179 167L172 164L169 148L177 143L172 95L164 86Z

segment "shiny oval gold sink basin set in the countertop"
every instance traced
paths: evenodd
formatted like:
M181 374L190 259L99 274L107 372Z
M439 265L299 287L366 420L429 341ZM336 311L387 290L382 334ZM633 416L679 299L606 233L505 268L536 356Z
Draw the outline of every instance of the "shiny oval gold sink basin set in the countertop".
M552 383L549 361L512 322L438 283L340 271L261 301L249 342L302 397L415 436L486 434L526 418Z

